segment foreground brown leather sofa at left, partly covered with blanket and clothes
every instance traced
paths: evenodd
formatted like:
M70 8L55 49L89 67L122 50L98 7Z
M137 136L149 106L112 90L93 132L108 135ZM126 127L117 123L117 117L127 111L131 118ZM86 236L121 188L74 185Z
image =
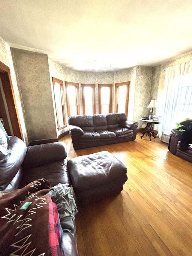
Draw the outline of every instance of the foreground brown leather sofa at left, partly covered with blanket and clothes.
M51 187L59 182L71 186L65 143L26 147L19 138L9 138L7 149L10 153L7 156L0 154L0 191L22 188L41 178L48 180ZM72 236L69 232L63 232L62 247L65 256L78 255L76 233Z

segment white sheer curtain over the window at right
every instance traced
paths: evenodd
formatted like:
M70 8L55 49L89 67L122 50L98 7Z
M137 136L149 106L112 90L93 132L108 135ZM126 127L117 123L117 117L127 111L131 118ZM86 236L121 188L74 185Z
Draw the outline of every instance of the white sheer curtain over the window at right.
M176 123L192 119L192 61L166 68L163 97L160 138L162 131L171 132Z

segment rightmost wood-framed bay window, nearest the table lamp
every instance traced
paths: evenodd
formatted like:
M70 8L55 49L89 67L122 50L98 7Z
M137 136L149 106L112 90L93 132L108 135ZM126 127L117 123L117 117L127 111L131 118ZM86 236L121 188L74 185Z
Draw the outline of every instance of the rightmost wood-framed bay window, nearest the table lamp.
M128 114L129 82L115 84L115 112Z

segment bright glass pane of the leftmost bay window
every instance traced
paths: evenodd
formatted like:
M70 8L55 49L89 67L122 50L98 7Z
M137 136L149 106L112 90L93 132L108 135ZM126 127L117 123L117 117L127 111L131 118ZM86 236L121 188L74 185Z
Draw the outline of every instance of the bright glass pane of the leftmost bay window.
M55 86L54 86L54 93L55 93L55 103L56 103L56 107L57 107L57 118L59 121L59 126L63 126L64 125L64 119L63 119L63 106L62 106L62 100L61 100L61 88L60 88L60 84L55 82Z

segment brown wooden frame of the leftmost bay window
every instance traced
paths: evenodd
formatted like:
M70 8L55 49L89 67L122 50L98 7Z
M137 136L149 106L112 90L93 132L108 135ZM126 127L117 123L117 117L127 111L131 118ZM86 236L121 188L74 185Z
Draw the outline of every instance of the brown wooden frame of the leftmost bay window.
M64 88L63 88L63 81L59 80L55 77L52 77L53 80L53 91L54 91L54 98L55 98L55 82L60 84L60 92L61 92L61 104L62 104L62 112L63 112L63 120L64 120L64 125L60 126L59 124L59 115L58 115L58 105L55 100L55 109L56 109L56 115L57 115L57 126L58 130L61 130L65 127L67 127L67 120L66 120L66 113L65 113L65 103L64 103Z

